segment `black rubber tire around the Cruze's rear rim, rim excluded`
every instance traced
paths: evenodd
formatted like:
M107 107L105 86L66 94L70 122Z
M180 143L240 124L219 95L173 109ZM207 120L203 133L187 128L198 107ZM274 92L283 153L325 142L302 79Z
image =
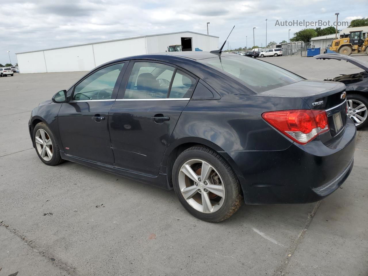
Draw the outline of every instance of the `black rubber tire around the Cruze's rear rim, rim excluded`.
M202 213L198 210L194 209L192 206L188 204L188 202L184 199L181 194L178 177L181 167L185 162L191 159L201 159L210 164L217 170L220 174L220 177L223 180L225 197L223 205L219 210L213 213ZM220 156L217 152L213 151L206 146L198 145L192 146L191 148L186 149L175 160L173 166L172 173L173 185L175 193L180 201L180 203L184 206L184 208L191 213L193 216L198 219L205 220L207 222L220 222L229 218L233 215L243 203L243 195L241 194L241 188L239 181L236 177L236 174L231 169L230 165L226 162L222 156Z

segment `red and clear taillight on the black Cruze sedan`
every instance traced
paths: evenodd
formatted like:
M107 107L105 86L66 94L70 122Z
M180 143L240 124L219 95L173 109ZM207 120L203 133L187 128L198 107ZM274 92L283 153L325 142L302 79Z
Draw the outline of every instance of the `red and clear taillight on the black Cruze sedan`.
M325 110L282 110L265 112L262 118L299 144L307 144L329 130Z

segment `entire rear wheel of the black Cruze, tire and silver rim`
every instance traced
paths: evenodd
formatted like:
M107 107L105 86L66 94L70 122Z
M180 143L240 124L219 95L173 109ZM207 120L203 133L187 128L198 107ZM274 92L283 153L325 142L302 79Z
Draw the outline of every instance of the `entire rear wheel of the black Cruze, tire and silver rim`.
M233 215L243 202L230 165L205 146L183 151L174 163L172 178L179 201L199 219L220 222Z

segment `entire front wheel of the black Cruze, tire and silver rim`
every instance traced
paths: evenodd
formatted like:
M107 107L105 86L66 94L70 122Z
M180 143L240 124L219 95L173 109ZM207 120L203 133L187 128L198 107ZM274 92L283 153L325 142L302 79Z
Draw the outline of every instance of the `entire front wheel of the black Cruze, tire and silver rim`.
M59 146L50 128L45 123L38 123L33 130L33 141L38 157L49 166L63 162Z

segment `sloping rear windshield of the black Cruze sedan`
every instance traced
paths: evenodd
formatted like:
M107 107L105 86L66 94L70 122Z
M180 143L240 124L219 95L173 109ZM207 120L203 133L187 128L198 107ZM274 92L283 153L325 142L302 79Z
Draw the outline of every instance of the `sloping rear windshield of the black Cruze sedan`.
M213 57L199 61L245 82L256 93L303 80L302 77L273 64L249 57Z

